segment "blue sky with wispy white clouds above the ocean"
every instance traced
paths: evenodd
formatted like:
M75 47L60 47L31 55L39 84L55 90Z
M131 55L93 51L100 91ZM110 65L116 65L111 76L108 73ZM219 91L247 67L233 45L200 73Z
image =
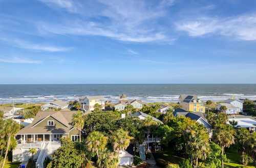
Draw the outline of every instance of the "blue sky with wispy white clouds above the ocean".
M256 83L254 0L0 0L0 83Z

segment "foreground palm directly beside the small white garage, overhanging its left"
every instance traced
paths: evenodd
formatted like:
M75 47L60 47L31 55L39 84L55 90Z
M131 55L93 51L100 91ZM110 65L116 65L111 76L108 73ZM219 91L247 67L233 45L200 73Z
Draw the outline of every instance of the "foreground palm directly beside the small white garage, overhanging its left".
M125 150L130 145L130 140L133 139L132 136L128 135L127 131L123 129L118 129L111 136L111 144L115 152L117 152L117 159L119 159L120 150Z

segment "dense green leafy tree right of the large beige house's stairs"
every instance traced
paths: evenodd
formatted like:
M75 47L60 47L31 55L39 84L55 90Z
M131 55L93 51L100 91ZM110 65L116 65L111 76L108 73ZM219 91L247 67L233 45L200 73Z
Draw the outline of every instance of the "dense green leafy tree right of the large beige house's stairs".
M61 147L52 155L51 162L47 165L48 168L53 167L81 167L83 162L75 148L75 143L70 138L61 138Z

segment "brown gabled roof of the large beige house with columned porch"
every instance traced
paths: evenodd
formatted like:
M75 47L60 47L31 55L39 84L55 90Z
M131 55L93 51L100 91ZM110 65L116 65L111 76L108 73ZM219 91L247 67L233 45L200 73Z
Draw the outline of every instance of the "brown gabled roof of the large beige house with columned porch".
M77 113L77 111L38 111L33 122L30 125L19 130L17 134L69 133L69 131L73 128L72 118L73 118L73 114L75 113ZM49 116L56 119L66 127L61 127L61 128L58 128L55 126L35 127L35 125L45 120Z

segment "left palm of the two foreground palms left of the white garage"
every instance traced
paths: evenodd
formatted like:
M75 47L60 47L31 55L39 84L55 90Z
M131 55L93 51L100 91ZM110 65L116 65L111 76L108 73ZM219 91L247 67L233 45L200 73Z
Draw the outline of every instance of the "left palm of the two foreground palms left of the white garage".
M86 139L87 149L92 152L96 152L99 159L99 151L102 151L106 144L108 144L108 137L104 136L99 131L91 132Z

